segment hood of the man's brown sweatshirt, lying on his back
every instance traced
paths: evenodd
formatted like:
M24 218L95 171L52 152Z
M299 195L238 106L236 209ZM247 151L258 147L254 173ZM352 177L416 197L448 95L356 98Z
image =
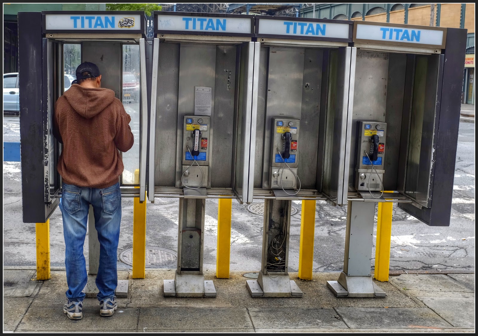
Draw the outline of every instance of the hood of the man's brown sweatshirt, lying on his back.
M64 96L77 114L89 119L110 105L115 98L115 93L106 88L97 89L73 84Z

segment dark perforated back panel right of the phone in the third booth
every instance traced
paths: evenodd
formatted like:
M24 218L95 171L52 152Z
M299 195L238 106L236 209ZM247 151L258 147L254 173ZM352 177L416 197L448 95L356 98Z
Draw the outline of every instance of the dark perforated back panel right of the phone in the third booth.
M322 86L321 50L305 49L302 111L300 121L300 155L297 175L302 189L315 189L319 134L320 95Z

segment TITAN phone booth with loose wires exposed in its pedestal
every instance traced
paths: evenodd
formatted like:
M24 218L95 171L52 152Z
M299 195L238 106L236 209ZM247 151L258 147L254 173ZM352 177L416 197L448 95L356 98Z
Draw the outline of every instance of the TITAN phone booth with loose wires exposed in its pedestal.
M352 22L257 16L261 43L252 181L264 200L261 271L252 296L300 297L288 274L292 200L347 203Z

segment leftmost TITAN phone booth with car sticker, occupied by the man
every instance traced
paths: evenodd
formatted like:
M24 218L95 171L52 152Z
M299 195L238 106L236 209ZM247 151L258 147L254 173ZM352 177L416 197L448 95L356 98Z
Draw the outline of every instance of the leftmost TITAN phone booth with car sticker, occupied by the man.
M113 90L131 116L134 145L121 153L125 167L120 176L121 195L144 200L144 12L42 11L19 12L18 17L23 222L46 222L59 204L62 183L56 165L62 148L53 136L54 104L71 86L76 67L85 61L98 65L102 87ZM134 178L135 172L139 179ZM88 274L96 274L99 243L91 207L88 222ZM94 281L90 284L88 280L87 288L90 285L95 286ZM127 291L127 280L124 285L119 281L117 295Z

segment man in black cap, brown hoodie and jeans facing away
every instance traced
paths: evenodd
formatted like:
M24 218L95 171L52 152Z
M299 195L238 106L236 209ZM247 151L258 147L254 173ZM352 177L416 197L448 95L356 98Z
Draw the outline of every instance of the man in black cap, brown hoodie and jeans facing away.
M67 301L63 312L70 319L83 317L82 307L87 284L83 244L87 233L90 204L100 243L96 285L100 315L111 316L117 309L115 290L120 238L121 194L119 177L123 161L119 150L133 146L128 125L130 115L113 90L101 88L101 74L94 63L76 68L76 80L55 103L54 132L63 144L58 173L63 179L62 202L65 236Z

